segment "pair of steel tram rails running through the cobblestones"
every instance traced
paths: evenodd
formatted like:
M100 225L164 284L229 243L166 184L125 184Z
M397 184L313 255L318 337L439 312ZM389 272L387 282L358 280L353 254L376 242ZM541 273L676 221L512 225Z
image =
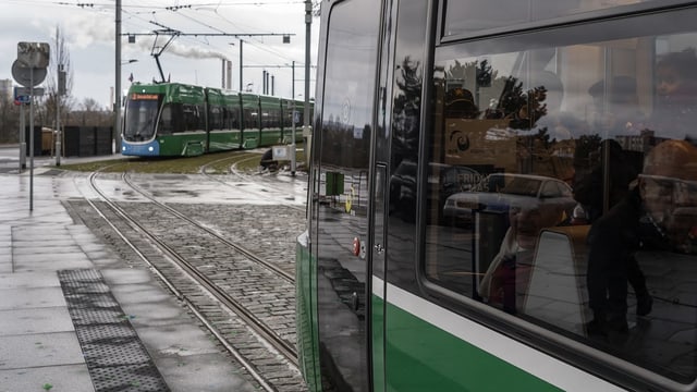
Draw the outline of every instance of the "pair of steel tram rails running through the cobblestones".
M215 272L211 274L210 268L208 269L205 268L206 267L205 264L203 265L200 262L197 264L195 260L195 257L192 258L191 255L186 255L185 252L183 253L181 250L182 249L181 246L173 245L171 240L168 241L167 238L162 238L158 233L152 233L151 226L148 226L147 223L142 223L140 219L134 218L132 216L132 212L129 212L124 207L111 200L110 197L99 188L99 185L97 184L98 174L99 174L98 172L91 173L89 175L88 182L90 184L91 189L94 189L94 192L99 195L99 197L103 200L103 205L106 206L106 208L109 209L109 211L111 211L111 213L118 216L119 217L118 219L122 220L124 224L127 224L127 228L131 228L130 230L136 231L140 235L145 236L147 242L154 244L154 246L156 246L163 255L166 255L166 258L169 260L170 264L174 264L178 270L185 272L188 275L188 279L192 279L193 281L195 281L196 284L203 287L201 290L204 290L209 296L216 298L216 301L218 302L218 304L220 304L221 307L228 309L228 311L231 314L237 315L237 317L246 326L248 326L248 328L253 330L253 334L255 336L259 336L259 339L261 339L266 344L273 347L273 350L278 352L278 354L283 356L283 358L288 362L289 366L297 369L297 353L295 351L294 329L292 332L292 336L289 336L288 330L284 332L278 332L277 330L274 330L274 328L270 327L264 320L264 317L259 317L258 315L255 314L255 311L248 309L249 304L245 302L244 298L240 299L235 297L234 294L230 294L230 291L231 291L230 283L221 284L219 277L224 275L224 273L221 273L219 269L213 268L212 270ZM154 210L152 206L156 206L158 210L166 211L171 217L174 217L174 219L180 222L178 223L178 225L181 224L181 222L186 222L188 224L188 229L186 230L200 231L205 233L204 234L205 236L209 238L215 238L215 241L218 242L219 244L224 244L224 247L227 247L228 249L233 249L231 252L236 253L237 255L241 255L241 256L233 257L234 259L239 259L240 257L243 257L247 260L252 260L252 262L254 262L256 266L264 266L262 268L267 272L261 273L261 275L264 275L262 279L267 279L267 280L271 279L269 275L276 277L273 278L276 279L276 281L271 285L285 287L286 289L285 291L288 293L293 293L294 295L294 290L293 290L294 275L290 273L288 270L283 270L272 262L267 262L266 260L264 260L262 257L255 255L253 252L248 249L245 249L240 244L234 244L233 242L229 241L228 238L217 233L215 230L207 228L205 224L197 222L195 219L192 219L185 216L184 213L178 211L176 209L166 205L164 203L157 200L157 198L155 198L152 195L149 195L147 192L140 188L137 184L135 184L127 174L122 174L122 181L125 184L127 184L132 189L134 189L135 192L137 192L143 197L149 200L149 203L147 203L149 206L148 208L149 210ZM178 298L183 301L187 305L187 307L189 307L192 313L196 315L196 317L199 318L201 323L213 334L213 336L216 336L217 340L220 341L222 346L224 346L225 350L233 355L233 357L235 357L245 368L247 368L247 370L252 375L254 375L254 378L257 379L259 384L265 390L268 390L268 391L278 390L272 385L273 384L272 381L266 381L264 378L264 375L255 370L256 368L259 367L259 365L255 364L255 359L246 358L244 353L236 350L234 347L234 343L230 342L229 339L224 335L224 333L222 333L219 330L219 328L216 327L217 322L209 320L210 317L206 315L206 313L208 311L207 306L206 305L201 306L200 304L196 303L197 301L200 301L200 298L194 298L194 299L189 298L189 293L187 293L189 289L180 290L179 285L181 284L181 279L176 277L176 273L172 271L172 268L167 268L167 267L163 268L161 266L161 262L151 261L150 257L144 255L144 253L138 249L138 245L134 244L133 241L129 240L127 235L123 233L124 230L129 230L129 229L117 228L117 225L111 222L113 220L113 217L107 217L107 215L102 212L102 209L103 209L102 207L89 200L89 198L86 198L86 199L91 206L91 208L94 208L95 211L97 211L109 223L112 230L118 233L118 235L124 241L124 243L129 244L129 246L138 255L138 257L142 258L149 266L149 268L160 278L160 280L162 280L162 282L168 286L168 289ZM143 245L140 244L139 246L143 246ZM231 273L236 274L244 270L250 270L249 265L246 265L243 268L237 270L230 270L228 272L229 274ZM258 270L259 270L259 267L256 267L255 271L253 271L254 273L249 274L249 279L259 279ZM257 274L257 277L253 278L254 274ZM244 278L239 278L239 279L244 279ZM294 301L294 298L289 298L289 301ZM215 316L213 316L213 319L215 319Z

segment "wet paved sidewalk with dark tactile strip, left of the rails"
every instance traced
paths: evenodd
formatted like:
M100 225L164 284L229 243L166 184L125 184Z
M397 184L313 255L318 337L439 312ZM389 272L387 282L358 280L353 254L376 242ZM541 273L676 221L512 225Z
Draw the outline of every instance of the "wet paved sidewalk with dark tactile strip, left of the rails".
M41 171L33 211L28 170L0 173L0 391L255 390L150 271L72 221L72 180Z

